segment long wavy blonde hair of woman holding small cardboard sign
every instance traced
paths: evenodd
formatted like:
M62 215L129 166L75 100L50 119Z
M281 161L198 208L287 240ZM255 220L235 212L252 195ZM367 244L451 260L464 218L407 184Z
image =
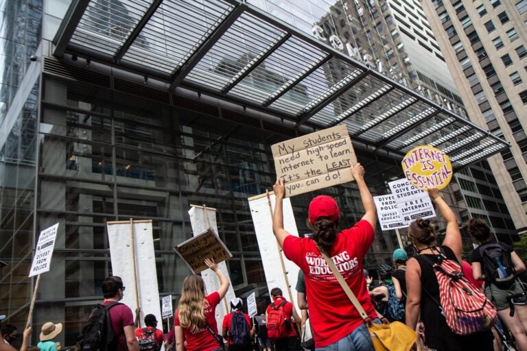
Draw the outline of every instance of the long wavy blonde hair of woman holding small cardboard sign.
M190 331L198 330L205 325L205 289L203 279L193 274L183 280L181 298L179 299L179 324Z

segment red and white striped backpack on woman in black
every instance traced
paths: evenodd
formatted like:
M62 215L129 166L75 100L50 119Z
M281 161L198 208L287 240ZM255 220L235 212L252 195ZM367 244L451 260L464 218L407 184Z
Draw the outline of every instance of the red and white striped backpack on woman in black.
M439 262L433 263L422 255L434 268L439 285L441 304L428 293L441 307L447 325L457 335L469 335L489 329L497 319L497 311L487 296L463 276L461 266L447 259L441 250Z

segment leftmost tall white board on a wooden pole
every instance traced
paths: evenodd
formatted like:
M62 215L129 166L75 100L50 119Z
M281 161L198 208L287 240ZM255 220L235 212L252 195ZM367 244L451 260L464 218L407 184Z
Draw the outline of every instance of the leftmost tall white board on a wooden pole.
M144 326L145 315L152 314L156 320L161 320L159 305L159 289L157 283L156 256L152 239L152 220L111 221L106 223L108 242L110 243L110 258L112 274L119 276L126 287L122 303L135 311L136 298L134 287L134 271L132 261L132 228L135 241L135 267L137 271L137 290L139 307L141 308L141 326Z

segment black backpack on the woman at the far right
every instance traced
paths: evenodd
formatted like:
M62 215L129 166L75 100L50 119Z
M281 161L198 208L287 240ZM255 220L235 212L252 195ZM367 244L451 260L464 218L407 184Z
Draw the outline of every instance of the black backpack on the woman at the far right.
M484 244L478 250L485 278L500 289L509 289L515 282L511 254L500 243Z

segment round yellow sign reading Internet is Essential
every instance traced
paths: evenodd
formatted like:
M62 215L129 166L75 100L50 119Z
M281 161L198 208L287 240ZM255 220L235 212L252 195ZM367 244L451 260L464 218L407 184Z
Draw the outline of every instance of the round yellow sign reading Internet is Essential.
M414 147L404 156L401 164L406 179L417 189L443 189L452 180L450 158L435 147Z

